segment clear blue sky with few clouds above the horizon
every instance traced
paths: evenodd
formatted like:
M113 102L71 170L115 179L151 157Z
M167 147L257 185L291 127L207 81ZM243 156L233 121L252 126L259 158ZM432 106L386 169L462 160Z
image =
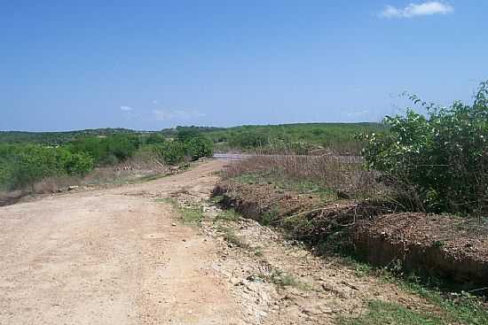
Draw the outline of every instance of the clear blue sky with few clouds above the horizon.
M377 121L470 102L488 2L0 0L0 129Z

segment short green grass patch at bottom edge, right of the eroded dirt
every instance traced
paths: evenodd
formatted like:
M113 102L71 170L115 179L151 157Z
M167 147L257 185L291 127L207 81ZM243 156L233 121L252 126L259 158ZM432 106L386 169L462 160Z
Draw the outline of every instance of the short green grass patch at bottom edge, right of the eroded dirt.
M419 313L393 303L373 300L368 304L365 314L358 318L339 321L341 325L377 325L377 324L402 324L402 325L442 325L444 321L433 314Z

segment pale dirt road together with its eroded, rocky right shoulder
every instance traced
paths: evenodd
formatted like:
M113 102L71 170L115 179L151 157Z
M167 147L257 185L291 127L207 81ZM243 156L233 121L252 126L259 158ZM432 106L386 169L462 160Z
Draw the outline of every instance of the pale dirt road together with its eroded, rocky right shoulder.
M0 324L317 325L371 299L428 305L256 221L218 219L206 199L225 163L0 207ZM201 205L201 227L163 197ZM295 285L263 280L277 275Z

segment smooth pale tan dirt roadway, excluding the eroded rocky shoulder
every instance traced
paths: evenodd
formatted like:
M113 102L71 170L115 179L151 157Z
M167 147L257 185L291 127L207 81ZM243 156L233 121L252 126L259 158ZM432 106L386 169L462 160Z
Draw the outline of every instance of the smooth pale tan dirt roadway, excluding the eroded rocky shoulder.
M223 164L1 207L0 324L243 323L216 244L155 200L208 196Z

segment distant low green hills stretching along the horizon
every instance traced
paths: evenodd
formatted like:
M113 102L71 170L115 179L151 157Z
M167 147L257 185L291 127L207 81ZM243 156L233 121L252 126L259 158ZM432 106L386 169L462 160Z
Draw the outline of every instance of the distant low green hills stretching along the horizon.
M216 127L176 127L161 131L140 131L128 128L94 128L66 132L23 132L0 131L0 143L43 143L58 145L68 143L80 136L107 136L116 134L148 135L158 133L174 138L178 132L191 131L205 135L219 148L232 147L246 149L261 146L270 139L288 142L315 143L321 146L356 145L355 136L362 132L385 130L381 123L294 123L279 125L244 125L232 128Z

